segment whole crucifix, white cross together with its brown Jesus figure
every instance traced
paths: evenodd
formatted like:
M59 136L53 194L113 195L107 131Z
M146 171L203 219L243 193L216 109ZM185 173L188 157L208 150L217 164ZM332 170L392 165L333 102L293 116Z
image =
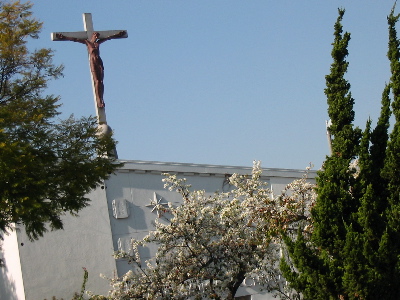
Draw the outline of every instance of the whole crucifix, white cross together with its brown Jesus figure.
M53 41L72 41L85 44L89 54L90 72L92 75L92 86L94 102L96 107L97 121L99 125L107 125L104 94L104 66L100 57L100 44L111 39L128 37L126 30L94 31L92 14L83 14L83 25L85 31L77 32L53 32ZM106 130L109 130L107 127Z

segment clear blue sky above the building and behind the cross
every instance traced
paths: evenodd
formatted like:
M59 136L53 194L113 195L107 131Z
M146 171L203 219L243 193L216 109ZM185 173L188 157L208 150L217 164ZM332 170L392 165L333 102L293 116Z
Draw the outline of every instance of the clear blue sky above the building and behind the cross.
M35 47L65 65L48 92L63 116L95 114L84 45L55 31L125 29L101 45L107 121L121 159L319 168L328 153L325 75L337 8L352 35L347 79L356 124L376 121L389 79L387 21L393 1L33 1L44 22ZM398 8L400 12L400 7Z

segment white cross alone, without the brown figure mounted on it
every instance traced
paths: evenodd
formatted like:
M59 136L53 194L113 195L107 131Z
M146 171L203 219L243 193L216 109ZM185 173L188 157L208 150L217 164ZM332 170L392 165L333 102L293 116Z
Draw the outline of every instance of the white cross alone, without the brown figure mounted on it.
M102 40L102 39L108 40L108 39L117 39L117 38L128 37L128 33L125 30L94 31L92 14L90 14L90 13L83 14L83 25L84 25L85 31L52 32L51 39L53 41L70 40L70 41L83 43L82 42L83 40L90 41L92 39L93 33L98 33L97 38L99 40ZM59 38L60 35L62 35L64 38ZM90 65L90 70L91 70L90 73L91 73L91 77L92 77L92 87L93 87L93 94L94 94L94 103L95 103L95 107L96 107L97 121L99 124L107 125L105 108L99 107L99 105L98 105L98 103L99 103L98 87L96 88L96 78L94 78L94 75L93 75L93 70L92 70L93 67L92 67L92 63L90 62L90 53L89 53L89 65ZM96 92L96 89L97 89L97 92Z

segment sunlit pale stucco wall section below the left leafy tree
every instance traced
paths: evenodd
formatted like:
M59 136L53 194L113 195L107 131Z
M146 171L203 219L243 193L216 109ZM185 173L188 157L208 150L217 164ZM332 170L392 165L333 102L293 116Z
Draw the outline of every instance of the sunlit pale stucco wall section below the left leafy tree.
M63 217L64 230L48 232L34 242L23 230L18 233L26 300L71 299L81 289L83 267L89 272L87 288L107 293L108 282L99 274L113 276L116 266L104 186L89 198L90 206L79 217Z

